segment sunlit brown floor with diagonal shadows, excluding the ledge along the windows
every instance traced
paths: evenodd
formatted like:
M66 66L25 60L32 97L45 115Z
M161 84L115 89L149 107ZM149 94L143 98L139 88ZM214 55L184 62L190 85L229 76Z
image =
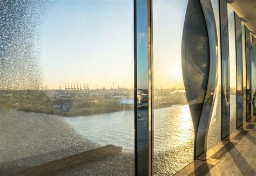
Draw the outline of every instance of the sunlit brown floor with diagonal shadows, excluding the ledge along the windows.
M256 126L206 175L256 175Z

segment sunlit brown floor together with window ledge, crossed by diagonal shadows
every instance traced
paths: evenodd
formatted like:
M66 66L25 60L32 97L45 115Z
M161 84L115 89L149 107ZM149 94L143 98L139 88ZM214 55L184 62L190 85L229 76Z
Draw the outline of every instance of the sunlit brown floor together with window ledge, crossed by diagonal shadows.
M235 130L230 140L222 140L207 151L206 160L194 160L176 176L248 175L256 176L256 122Z

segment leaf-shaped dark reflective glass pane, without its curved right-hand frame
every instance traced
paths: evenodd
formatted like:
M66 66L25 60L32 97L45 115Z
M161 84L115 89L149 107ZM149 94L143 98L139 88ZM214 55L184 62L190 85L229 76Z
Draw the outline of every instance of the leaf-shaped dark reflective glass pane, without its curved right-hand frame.
M204 14L199 1L188 1L183 29L181 64L187 102L195 135L207 87L209 45Z

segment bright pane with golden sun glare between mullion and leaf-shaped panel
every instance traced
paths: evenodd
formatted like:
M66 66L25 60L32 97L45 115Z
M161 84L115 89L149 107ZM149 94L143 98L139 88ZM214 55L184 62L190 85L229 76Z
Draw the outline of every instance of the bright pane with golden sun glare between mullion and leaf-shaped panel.
M194 130L181 66L186 7L187 0L153 1L156 175L172 175L193 161Z

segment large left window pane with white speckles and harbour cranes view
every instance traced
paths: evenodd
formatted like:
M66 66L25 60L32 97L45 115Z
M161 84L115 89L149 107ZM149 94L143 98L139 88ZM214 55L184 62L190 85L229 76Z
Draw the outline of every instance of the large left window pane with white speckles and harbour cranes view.
M2 4L0 175L133 175L133 2Z

